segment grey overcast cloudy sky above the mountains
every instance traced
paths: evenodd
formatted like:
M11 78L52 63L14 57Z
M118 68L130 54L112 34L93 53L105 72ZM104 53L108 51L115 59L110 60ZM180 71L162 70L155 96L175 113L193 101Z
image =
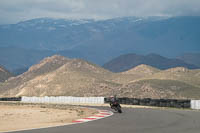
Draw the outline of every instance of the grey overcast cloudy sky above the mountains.
M53 18L199 16L200 0L0 0L0 24Z

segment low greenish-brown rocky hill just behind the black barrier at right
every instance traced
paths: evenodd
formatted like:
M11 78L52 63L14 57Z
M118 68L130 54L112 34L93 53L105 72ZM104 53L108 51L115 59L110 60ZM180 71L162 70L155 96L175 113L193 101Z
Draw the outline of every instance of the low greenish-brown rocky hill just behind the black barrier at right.
M199 89L177 80L144 79L127 84L121 92L140 98L198 99Z

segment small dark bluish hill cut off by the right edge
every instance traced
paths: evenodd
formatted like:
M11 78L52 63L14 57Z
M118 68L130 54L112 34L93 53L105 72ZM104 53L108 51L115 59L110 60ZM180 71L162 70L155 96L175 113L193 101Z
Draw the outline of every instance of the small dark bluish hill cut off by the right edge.
M200 53L187 53L177 58L185 61L186 63L200 67Z

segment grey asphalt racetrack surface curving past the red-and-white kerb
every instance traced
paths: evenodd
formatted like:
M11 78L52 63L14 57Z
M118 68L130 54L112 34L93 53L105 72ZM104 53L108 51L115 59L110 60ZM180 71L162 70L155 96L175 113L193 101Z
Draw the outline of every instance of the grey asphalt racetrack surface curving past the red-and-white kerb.
M200 112L123 108L122 114L114 113L105 119L13 133L200 133Z

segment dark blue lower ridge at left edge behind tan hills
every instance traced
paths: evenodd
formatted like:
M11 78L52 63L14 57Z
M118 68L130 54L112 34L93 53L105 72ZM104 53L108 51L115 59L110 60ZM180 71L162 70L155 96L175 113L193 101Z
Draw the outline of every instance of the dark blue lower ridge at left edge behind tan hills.
M0 63L15 75L25 72L44 57L53 55L48 50L30 50L17 47L0 47Z

